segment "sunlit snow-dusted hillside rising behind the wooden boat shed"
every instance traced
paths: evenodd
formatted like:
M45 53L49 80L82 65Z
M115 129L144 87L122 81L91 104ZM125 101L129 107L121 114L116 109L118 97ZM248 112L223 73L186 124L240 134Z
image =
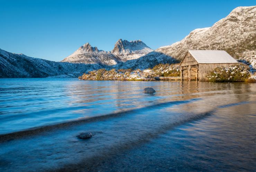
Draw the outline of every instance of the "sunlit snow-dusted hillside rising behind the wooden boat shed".
M256 6L237 7L210 28L195 29L180 42L155 51L181 60L188 50L225 50L256 67Z

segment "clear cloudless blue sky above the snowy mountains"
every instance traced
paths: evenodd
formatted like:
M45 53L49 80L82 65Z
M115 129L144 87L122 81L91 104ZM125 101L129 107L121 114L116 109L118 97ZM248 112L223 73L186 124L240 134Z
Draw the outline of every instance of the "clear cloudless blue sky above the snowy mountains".
M255 0L0 0L0 48L61 61L86 42L110 51L118 39L157 49L211 27Z

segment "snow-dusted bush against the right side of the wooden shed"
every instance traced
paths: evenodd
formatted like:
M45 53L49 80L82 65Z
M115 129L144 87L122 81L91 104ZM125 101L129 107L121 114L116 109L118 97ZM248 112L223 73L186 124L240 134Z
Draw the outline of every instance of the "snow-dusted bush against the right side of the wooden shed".
M243 64L232 65L231 67L217 67L208 73L210 82L238 82L245 81L250 77L250 68Z

